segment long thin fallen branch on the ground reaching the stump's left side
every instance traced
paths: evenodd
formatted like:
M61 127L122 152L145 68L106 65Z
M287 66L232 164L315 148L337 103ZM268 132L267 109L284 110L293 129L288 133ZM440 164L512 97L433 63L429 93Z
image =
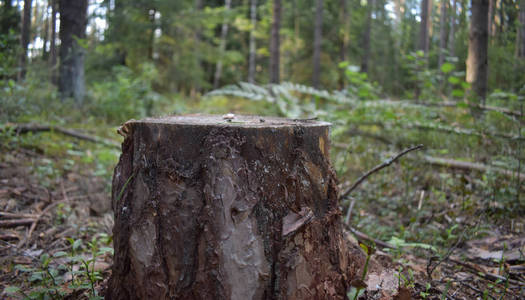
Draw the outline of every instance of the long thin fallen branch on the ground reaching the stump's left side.
M103 139L97 136L91 136L87 135L85 133L63 128L60 126L54 126L54 125L35 125L35 124L18 124L18 125L7 125L5 126L2 131L6 130L13 130L16 134L25 134L28 132L46 132L46 131L52 131L52 132L58 132L63 135L71 136L80 140L102 144L108 147L112 148L118 148L120 149L120 145L117 142Z

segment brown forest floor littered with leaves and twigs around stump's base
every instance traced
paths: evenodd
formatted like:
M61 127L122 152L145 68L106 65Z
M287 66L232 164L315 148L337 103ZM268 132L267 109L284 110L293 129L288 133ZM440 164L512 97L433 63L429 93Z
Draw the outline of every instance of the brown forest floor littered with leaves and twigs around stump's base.
M97 299L111 274L110 174L79 162L92 153L76 141L67 153L42 149L39 139L49 138L0 144L0 298ZM381 218L379 210L357 213ZM482 222L485 237L458 233L444 255L376 240L381 250L371 256L359 299L524 299L523 228L513 219L457 218L433 223ZM357 248L358 240L373 240L347 237Z

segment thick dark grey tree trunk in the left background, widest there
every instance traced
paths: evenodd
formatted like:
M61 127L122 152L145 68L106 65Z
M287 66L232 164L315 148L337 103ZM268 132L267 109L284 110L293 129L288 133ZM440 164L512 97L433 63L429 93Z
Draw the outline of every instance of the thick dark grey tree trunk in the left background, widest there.
M88 0L59 0L60 70L58 91L62 99L81 104L85 95L84 49L77 39L86 37Z

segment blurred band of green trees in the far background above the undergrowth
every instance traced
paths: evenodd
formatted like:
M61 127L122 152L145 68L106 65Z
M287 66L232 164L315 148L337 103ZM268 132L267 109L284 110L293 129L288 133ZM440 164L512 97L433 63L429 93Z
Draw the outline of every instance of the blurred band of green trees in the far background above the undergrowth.
M341 89L349 84L343 62L360 66L390 98L485 98L525 84L519 0L85 2L87 10L68 13L68 1L0 1L2 85L45 85L51 94L58 86L77 103L87 97L87 106L107 105L95 98L118 95L127 74L129 84L150 89L142 91L150 100L129 102L152 112L161 98L196 99L242 81ZM486 71L466 72L467 57ZM475 94L464 93L465 82Z

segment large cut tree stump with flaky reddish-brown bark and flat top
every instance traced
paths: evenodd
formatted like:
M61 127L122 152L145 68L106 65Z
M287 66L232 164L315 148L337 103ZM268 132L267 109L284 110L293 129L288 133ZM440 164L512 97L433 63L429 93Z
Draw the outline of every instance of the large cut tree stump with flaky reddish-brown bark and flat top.
M125 123L106 299L346 299L356 266L329 125L210 115Z

